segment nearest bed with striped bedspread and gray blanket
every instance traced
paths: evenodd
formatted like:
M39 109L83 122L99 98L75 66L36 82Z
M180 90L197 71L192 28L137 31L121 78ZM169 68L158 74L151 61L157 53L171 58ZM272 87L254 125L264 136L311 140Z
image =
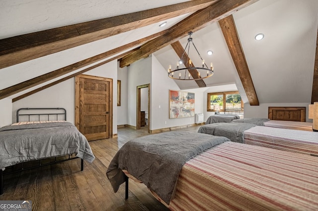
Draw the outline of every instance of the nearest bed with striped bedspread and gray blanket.
M317 210L317 174L316 157L177 131L127 142L106 172L115 192L125 181L127 191L133 177L175 211Z

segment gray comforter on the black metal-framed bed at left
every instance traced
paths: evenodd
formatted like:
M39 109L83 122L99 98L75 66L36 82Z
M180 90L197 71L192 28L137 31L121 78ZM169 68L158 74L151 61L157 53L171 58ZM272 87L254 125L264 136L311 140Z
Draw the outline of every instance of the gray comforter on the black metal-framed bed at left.
M92 162L87 139L70 122L9 125L0 128L0 169L33 159L77 154Z

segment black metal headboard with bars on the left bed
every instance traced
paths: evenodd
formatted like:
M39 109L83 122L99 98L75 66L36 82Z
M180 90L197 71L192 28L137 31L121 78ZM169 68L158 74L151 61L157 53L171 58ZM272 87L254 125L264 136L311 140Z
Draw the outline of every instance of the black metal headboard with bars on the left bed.
M29 110L29 111L25 111ZM32 111L33 112L32 112ZM34 112L35 111L35 112ZM40 113L41 111L41 113ZM45 111L42 113L42 111ZM37 113L39 112L39 113ZM50 121L50 120L66 120L66 109L62 107L54 107L54 108L19 108L16 111L16 122L19 122L20 116L28 116L27 121ZM32 119L30 119L32 117ZM63 117L63 118L62 118ZM35 120L37 119L37 120Z

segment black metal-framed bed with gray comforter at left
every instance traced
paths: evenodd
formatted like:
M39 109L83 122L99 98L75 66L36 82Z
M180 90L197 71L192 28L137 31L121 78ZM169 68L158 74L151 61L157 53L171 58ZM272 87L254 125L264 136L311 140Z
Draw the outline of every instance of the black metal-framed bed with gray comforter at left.
M64 120L59 119L61 115ZM26 117L26 121L20 121L21 116ZM42 163L44 158L55 159ZM83 159L92 162L95 157L85 136L74 124L66 121L64 108L20 108L17 110L17 122L0 128L1 194L3 175L75 158L81 158L83 170ZM38 165L25 167L24 163L31 160L39 160ZM19 163L22 163L20 169L13 168Z

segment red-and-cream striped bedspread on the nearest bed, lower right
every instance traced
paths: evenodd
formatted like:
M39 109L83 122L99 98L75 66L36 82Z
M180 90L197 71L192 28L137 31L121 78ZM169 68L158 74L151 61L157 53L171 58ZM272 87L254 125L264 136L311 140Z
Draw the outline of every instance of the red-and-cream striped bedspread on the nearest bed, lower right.
M318 158L226 142L183 166L173 211L318 210Z

